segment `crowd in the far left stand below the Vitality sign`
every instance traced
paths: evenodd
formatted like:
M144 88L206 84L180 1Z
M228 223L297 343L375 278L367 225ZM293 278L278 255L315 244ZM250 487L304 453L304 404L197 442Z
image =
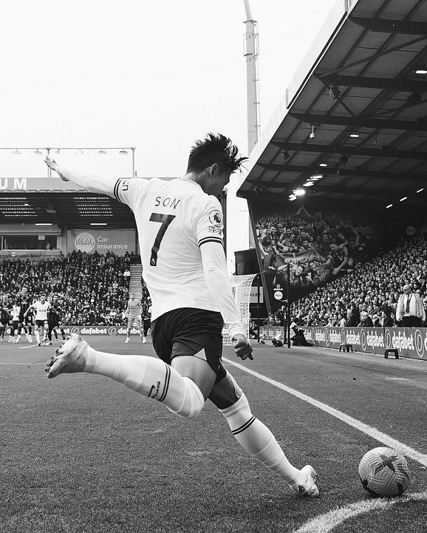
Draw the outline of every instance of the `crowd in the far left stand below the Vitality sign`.
M59 258L30 261L16 258L0 262L0 301L12 309L23 287L31 301L40 295L57 295L63 325L124 325L123 313L128 302L131 260L107 251L85 253L73 251ZM149 295L143 287L143 304Z

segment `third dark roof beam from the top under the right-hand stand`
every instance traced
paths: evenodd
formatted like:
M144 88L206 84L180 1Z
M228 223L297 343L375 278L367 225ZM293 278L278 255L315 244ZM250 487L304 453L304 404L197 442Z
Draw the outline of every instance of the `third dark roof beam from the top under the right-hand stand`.
M289 116L306 124L328 124L355 128L392 129L402 131L427 131L427 121L409 121L392 119L353 118L352 116L316 115L311 113L289 112Z

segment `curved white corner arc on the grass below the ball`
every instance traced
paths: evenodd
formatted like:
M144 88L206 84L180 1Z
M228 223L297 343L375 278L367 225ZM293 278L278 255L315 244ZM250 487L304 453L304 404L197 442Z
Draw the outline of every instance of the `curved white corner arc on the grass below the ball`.
M419 492L415 494L409 494L404 498L396 498L395 500L365 500L356 503L351 503L345 507L339 507L332 509L324 515L319 515L312 520L308 520L304 525L298 529L294 529L292 533L329 533L332 529L339 526L348 518L363 515L363 513L369 513L370 511L378 511L390 508L396 503L402 504L407 501L425 501L427 500L427 492Z

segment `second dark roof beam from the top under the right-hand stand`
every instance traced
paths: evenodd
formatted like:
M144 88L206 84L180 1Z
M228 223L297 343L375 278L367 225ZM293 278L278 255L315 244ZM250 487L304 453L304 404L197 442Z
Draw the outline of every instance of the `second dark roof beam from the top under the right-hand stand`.
M322 78L330 85L339 87L362 87L368 89L382 89L404 92L427 92L427 81L407 80L405 78L367 78L365 76L344 76L342 74L320 74L316 78Z

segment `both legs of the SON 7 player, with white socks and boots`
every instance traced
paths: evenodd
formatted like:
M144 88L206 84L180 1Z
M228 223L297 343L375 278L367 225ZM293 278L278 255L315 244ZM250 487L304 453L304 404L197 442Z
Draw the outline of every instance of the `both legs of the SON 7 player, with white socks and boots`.
M204 350L201 350L204 354ZM172 366L145 356L97 352L78 335L64 342L47 366L47 376L59 373L98 373L131 390L155 398L181 417L200 413L209 397L219 407L236 440L253 457L279 474L301 496L318 496L311 465L292 466L271 431L251 413L246 396L229 373L215 385L216 374L203 354L172 359Z

